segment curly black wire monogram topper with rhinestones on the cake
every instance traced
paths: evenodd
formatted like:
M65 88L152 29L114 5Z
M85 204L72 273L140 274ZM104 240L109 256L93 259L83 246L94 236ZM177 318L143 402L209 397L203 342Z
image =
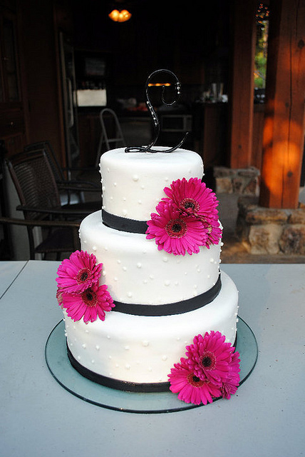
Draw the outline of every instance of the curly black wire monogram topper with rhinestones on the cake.
M153 105L150 101L150 96L148 94L148 89L150 87L150 80L153 78L153 76L155 76L158 73L168 73L171 76L173 76L173 78L175 79L175 89L177 92L175 100L173 100L171 103L169 103L169 102L165 101L165 97L164 97L165 85L163 85L162 93L161 93L162 104L165 104L166 106L172 106L180 99L181 84L180 84L180 81L177 79L177 76L174 73L172 73L172 71L166 70L166 69L160 69L160 70L153 71L153 73L150 74L150 76L148 76L148 79L146 81L145 94L146 94L146 104L148 106L148 110L150 111L150 115L153 118L153 123L154 123L154 127L155 127L155 139L148 146L130 146L125 149L125 152L173 152L176 149L180 148L180 146L182 146L182 144L185 142L185 139L187 138L187 135L189 134L189 132L187 132L185 134L184 138L182 139L182 141L180 141L180 143L177 144L177 146L174 146L170 149L165 149L165 150L153 149L153 146L155 146L157 139L159 138L159 135L160 135L160 121L157 117L157 114L155 113L155 109L153 109Z

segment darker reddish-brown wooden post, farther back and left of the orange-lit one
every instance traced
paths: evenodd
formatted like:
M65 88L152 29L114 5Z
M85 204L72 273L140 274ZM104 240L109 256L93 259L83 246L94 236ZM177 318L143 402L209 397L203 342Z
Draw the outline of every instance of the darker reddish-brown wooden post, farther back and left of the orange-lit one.
M229 97L229 166L232 169L251 165L256 9L255 0L234 1L232 82Z

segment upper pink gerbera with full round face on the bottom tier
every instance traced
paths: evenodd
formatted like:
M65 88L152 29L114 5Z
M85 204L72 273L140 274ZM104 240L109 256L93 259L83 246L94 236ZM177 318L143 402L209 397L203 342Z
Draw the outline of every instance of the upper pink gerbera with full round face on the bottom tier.
M222 333L211 331L206 332L205 337L197 335L186 349L187 363L195 376L214 383L222 383L227 378L234 348L225 343Z

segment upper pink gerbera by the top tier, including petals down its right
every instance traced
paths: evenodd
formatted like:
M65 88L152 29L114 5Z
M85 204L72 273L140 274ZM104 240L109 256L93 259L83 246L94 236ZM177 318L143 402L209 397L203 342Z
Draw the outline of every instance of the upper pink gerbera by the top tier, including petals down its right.
M202 221L207 232L207 243L217 244L222 230L218 220L218 201L216 195L205 183L198 178L185 178L173 181L169 187L165 187L165 194L172 200L182 214L190 214ZM163 199L163 200L168 200Z

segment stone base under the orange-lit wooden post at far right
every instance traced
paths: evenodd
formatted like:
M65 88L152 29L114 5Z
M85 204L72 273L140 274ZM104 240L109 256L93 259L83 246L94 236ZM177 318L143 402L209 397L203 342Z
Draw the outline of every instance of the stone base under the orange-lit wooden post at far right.
M238 201L237 236L254 254L305 254L305 204L297 209L270 209L258 198Z

